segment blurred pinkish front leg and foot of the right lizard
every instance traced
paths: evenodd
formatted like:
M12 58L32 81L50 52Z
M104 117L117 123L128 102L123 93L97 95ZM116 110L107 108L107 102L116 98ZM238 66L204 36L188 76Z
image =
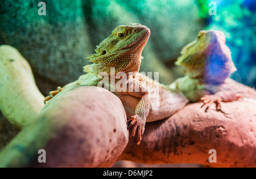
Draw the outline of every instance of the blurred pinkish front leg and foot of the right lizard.
M205 112L208 112L210 106L213 103L216 103L216 110L225 113L221 110L221 102L228 103L238 100L240 98L242 98L242 96L238 95L233 91L219 91L214 95L205 95L201 97L200 102L204 103L201 107L203 107L205 104L208 104L207 108L205 108Z

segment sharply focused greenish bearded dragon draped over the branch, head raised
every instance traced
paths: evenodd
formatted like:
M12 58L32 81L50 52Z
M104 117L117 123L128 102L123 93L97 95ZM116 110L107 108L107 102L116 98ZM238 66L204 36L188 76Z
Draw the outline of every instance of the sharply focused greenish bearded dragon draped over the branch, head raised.
M51 91L45 101L71 86L104 86L122 101L130 118L127 122L133 126L131 137L138 131L138 144L141 143L146 122L169 117L188 103L180 92L138 73L149 36L150 29L141 24L118 26L88 57L93 64L84 67L87 74Z

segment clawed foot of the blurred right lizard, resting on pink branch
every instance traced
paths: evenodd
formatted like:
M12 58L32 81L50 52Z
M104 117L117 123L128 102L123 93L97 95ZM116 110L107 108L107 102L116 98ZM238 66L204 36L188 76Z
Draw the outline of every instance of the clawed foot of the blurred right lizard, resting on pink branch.
M203 102L204 104L201 106L203 108L204 105L207 105L207 108L205 108L205 112L209 111L210 106L212 106L213 103L216 104L216 110L220 111L222 113L225 113L221 110L221 97L218 97L216 95L205 95L201 97L200 102Z

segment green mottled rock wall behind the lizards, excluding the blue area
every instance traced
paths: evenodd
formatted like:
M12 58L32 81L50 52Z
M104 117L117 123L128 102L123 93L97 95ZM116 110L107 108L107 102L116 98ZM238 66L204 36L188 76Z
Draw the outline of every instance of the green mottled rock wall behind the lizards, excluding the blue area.
M0 45L14 46L30 62L44 95L76 80L96 45L130 23L151 29L141 71L159 72L160 82L171 83L182 75L172 68L180 50L205 26L194 1L44 0L46 16L38 15L39 2L1 2Z

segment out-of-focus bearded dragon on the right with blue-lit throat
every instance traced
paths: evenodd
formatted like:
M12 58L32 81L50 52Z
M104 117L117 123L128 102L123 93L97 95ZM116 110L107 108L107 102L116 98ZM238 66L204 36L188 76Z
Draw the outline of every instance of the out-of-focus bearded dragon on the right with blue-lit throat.
M221 31L200 31L197 39L181 50L175 62L184 67L185 76L176 79L170 88L183 92L191 102L207 104L206 112L214 103L216 109L223 112L221 102L244 97L256 99L254 89L229 78L237 69L225 43L226 37Z

